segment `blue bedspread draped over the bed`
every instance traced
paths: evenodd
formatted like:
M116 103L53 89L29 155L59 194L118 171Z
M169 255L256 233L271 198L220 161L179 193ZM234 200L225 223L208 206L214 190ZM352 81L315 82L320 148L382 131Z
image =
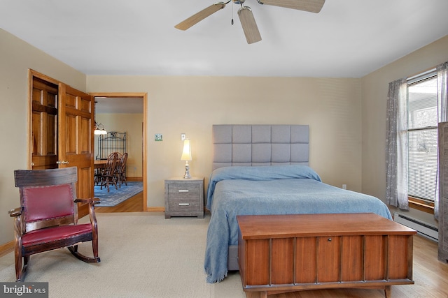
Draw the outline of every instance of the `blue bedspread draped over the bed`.
M211 211L204 260L208 283L228 274L228 246L238 244L237 215L375 213L392 218L378 198L324 184L304 165L214 170L207 208Z

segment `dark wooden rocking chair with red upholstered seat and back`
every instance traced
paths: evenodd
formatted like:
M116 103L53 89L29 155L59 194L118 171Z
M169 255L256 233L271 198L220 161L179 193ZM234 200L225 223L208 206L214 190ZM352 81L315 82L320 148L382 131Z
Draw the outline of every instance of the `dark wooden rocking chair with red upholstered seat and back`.
M79 260L99 262L97 198L76 198L76 167L50 170L15 170L20 207L10 210L15 218L15 277L23 281L30 255L67 247ZM78 225L77 202L89 204L90 223ZM78 253L80 242L92 241L93 257ZM23 263L22 263L23 262Z

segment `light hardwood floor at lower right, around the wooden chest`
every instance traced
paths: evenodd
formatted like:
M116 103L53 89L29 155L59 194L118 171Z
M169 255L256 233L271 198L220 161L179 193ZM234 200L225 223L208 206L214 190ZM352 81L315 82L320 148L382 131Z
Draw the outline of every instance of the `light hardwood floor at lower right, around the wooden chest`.
M447 298L448 264L437 260L437 243L414 236L414 285L393 285L391 298ZM384 298L384 290L309 290L269 295L269 298Z

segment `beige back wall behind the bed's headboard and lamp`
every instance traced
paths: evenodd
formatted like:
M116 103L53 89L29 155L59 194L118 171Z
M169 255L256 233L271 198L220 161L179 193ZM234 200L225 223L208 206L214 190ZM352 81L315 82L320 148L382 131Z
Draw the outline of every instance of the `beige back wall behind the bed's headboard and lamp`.
M164 180L183 175L181 133L190 173L207 184L213 124L309 124L310 165L328 184L361 190L359 79L88 75L87 91L148 93L149 207L163 207Z

